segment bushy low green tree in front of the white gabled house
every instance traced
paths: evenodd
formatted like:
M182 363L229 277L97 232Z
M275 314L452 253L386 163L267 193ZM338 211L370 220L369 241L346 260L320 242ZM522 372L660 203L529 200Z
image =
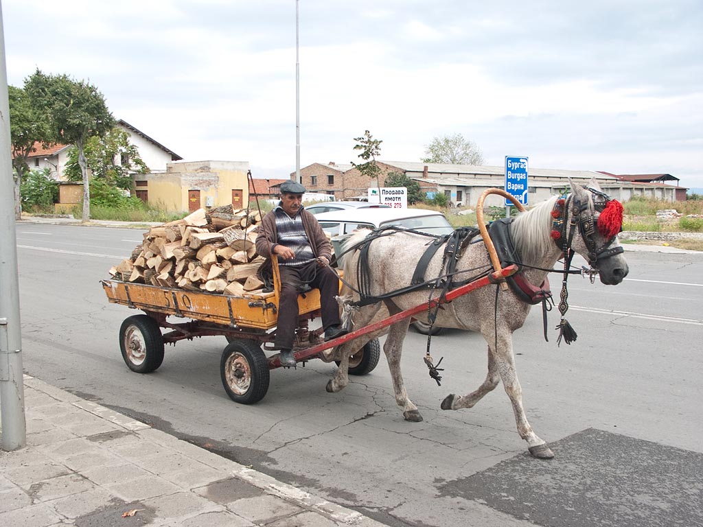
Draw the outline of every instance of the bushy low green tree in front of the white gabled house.
M85 156L93 178L108 181L117 188L130 190L130 174L147 174L149 168L139 157L136 146L129 142L129 134L118 126L113 127L104 137L92 136L85 144ZM127 160L125 164L117 160ZM69 181L81 181L78 164L78 150L68 152L64 174Z

